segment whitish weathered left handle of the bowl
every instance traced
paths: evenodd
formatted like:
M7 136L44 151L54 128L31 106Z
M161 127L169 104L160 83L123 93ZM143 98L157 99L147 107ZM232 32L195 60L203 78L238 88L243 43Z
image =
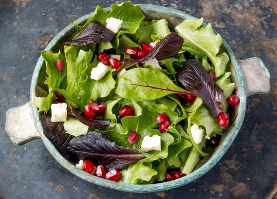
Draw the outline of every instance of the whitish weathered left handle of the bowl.
M27 102L22 106L10 108L6 113L5 131L15 145L24 145L40 139L30 111L31 102Z

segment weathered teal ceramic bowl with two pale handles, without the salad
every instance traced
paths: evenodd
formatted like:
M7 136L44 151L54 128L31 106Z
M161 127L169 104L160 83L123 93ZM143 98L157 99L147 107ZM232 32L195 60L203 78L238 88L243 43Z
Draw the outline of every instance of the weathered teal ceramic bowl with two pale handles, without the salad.
M193 16L188 15L184 12L163 6L149 4L139 5L146 16L146 20L165 18L169 22L169 25L171 25L172 27L179 25L185 19L194 18ZM110 8L107 8L107 10L109 11ZM82 24L92 14L93 13L83 16L82 18L77 20L77 23ZM68 36L68 34L70 34L72 30L74 30L73 24L68 25L59 34L55 36L55 38L50 42L50 44L46 47L45 50L53 50L55 46L58 44L58 42L62 40L62 38L64 38L65 36ZM231 117L232 115L236 115L236 119L231 125L229 125L225 129L219 147L213 152L212 155L203 158L199 162L197 167L194 169L192 174L189 174L185 177L169 182L162 182L156 184L129 185L120 182L109 181L103 178L96 177L94 175L89 175L79 170L75 167L74 164L65 159L58 152L58 150L55 149L55 146L52 144L52 142L44 136L43 128L39 122L38 110L35 107L31 106L29 102L21 107L12 108L7 112L7 120L5 125L6 131L11 137L13 143L17 145L25 144L26 142L33 139L41 138L49 152L53 155L57 162L59 162L65 169L67 169L72 174L75 174L78 177L83 178L84 180L97 184L99 186L108 187L111 189L125 192L158 192L183 186L207 173L213 166L215 166L215 164L222 158L224 153L230 147L242 126L246 112L247 96L257 93L267 93L269 91L270 75L259 58L254 57L247 60L237 60L232 50L224 41L222 44L222 50L224 50L230 57L228 67L229 70L232 72L232 81L236 83L236 94L239 96L241 102L238 106L236 106L234 110L232 110ZM32 101L35 98L35 85L38 81L40 71L44 64L45 63L42 57L40 57L34 69L34 73L32 75L30 87L30 101ZM251 70L248 70L250 66ZM258 75L254 73L255 70ZM261 84L261 79L263 79L263 82L266 83ZM268 81L265 81L265 79ZM17 113L18 111L20 112L19 116L21 117L21 119L17 118L17 123L14 122L14 118L10 117L10 115L13 115L13 111L17 111ZM32 130L29 130L28 132L23 132L22 135L19 135L18 132L15 133L15 130L12 126L15 124L23 125L23 123L18 122L22 119L24 119L25 124L28 120L29 126L33 125L34 127Z

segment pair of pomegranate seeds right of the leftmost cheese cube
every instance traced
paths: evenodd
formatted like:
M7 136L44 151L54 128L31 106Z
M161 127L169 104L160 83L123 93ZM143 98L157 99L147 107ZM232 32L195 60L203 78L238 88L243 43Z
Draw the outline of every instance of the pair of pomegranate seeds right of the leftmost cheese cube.
M86 118L93 120L95 117L101 117L104 115L106 111L106 104L105 103L94 103L90 101L87 105L83 108L83 113Z

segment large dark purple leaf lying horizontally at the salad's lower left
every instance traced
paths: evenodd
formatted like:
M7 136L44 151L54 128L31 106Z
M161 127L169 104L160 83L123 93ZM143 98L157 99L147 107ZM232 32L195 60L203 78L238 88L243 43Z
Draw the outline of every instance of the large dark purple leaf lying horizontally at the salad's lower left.
M108 171L114 168L125 169L129 164L144 158L136 149L119 147L105 134L95 131L73 138L67 150L76 159L92 159L105 166Z

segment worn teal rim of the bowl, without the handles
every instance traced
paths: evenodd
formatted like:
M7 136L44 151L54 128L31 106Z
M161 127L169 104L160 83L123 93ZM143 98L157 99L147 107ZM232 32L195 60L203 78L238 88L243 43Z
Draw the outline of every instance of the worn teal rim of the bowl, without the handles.
M153 4L134 4L139 5L141 7L142 11L156 11L156 12L162 12L169 15L174 15L176 17L181 17L185 19L191 19L195 18L192 15L189 15L185 12L168 8L164 6L159 5L153 5ZM105 8L107 11L110 11L110 7ZM94 12L91 12L89 14L84 15L83 17L76 20L76 23L80 24L84 21L86 21ZM48 46L45 48L45 50L52 50L56 43L60 41L61 38L63 38L70 30L74 28L73 23L65 27L63 30L61 30L54 38L53 40L48 44ZM235 72L237 75L237 93L240 96L240 104L238 105L238 113L237 118L233 123L233 127L229 129L229 133L226 135L224 141L221 143L219 148L213 152L213 154L210 156L209 160L205 162L200 168L196 169L194 172L192 172L189 175L186 175L182 178L168 181L168 182L161 182L156 184L145 184L145 185L133 185L133 184L125 184L121 182L113 182L104 178L99 178L94 175L87 175L85 172L81 171L80 169L76 168L75 165L73 165L70 161L68 161L66 158L64 158L58 150L55 148L55 146L52 144L50 140L48 140L44 134L43 134L43 128L39 121L39 113L37 108L34 106L31 106L31 115L34 119L34 124L36 125L37 130L39 131L40 137L46 146L46 148L49 150L49 152L52 154L52 156L55 158L55 160L61 164L65 169L67 169L69 172L77 175L78 177L81 177L82 179L92 182L96 185L111 188L118 191L124 191L124 192L133 192L133 193L149 193L149 192L158 192L158 191L165 191L168 189L177 188L180 186L183 186L185 184L188 184L200 176L206 174L212 167L214 167L219 160L222 158L222 156L225 154L227 149L231 146L232 142L234 141L235 137L237 136L245 116L246 112L246 94L245 94L245 82L242 75L242 71L240 69L240 66L237 62L237 59L230 49L230 47L227 45L227 43L222 39L222 47L225 50L225 52L228 54L230 58L230 63L235 68ZM33 75L31 79L31 86L30 86L30 101L33 101L35 98L35 85L38 81L40 70L42 69L42 66L44 64L44 60L42 56L40 55Z

